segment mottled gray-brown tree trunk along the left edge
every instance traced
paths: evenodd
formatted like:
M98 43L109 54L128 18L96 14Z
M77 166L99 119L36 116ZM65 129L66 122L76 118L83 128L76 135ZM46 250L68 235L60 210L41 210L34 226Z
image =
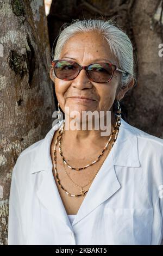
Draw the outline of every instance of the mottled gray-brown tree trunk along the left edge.
M52 128L43 0L0 0L0 29L0 244L7 245L12 168L21 151Z

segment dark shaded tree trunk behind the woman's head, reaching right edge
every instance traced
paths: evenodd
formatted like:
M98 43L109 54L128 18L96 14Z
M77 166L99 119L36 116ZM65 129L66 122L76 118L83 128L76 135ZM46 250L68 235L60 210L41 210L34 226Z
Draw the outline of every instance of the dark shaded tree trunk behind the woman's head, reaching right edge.
M114 17L133 43L137 64L138 82L121 101L123 112L129 124L160 138L163 138L163 57L158 53L159 45L163 44L162 9L163 0L53 0L48 15L51 47L65 22Z

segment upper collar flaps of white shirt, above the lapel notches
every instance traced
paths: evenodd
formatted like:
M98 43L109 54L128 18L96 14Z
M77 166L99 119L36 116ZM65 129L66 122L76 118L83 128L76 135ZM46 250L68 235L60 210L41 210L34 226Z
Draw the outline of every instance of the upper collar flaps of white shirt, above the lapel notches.
M48 170L52 166L50 146L54 132L59 129L62 121L60 124L53 126L45 138L36 146L36 153L30 173ZM137 136L134 127L122 118L117 140L114 147L112 147L111 154L115 166L140 167Z

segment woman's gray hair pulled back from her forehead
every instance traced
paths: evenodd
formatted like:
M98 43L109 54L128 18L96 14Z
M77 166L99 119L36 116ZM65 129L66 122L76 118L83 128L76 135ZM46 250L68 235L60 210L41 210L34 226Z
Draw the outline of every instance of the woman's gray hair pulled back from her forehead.
M71 24L65 23L64 29L60 31L53 59L59 59L62 48L66 42L75 34L81 32L96 31L101 33L110 46L111 53L117 59L118 67L128 74L121 73L121 83L118 89L127 84L134 78L136 82L136 74L134 72L133 46L128 35L118 27L117 23L112 20L73 20ZM55 76L55 75L54 75Z

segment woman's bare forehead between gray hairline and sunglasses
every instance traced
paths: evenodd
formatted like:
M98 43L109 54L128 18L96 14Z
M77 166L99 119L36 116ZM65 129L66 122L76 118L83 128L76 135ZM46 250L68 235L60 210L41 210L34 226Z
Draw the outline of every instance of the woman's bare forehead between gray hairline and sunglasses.
M116 62L114 54L104 36L97 32L78 33L73 35L64 45L61 58L87 58L88 60L105 59Z

